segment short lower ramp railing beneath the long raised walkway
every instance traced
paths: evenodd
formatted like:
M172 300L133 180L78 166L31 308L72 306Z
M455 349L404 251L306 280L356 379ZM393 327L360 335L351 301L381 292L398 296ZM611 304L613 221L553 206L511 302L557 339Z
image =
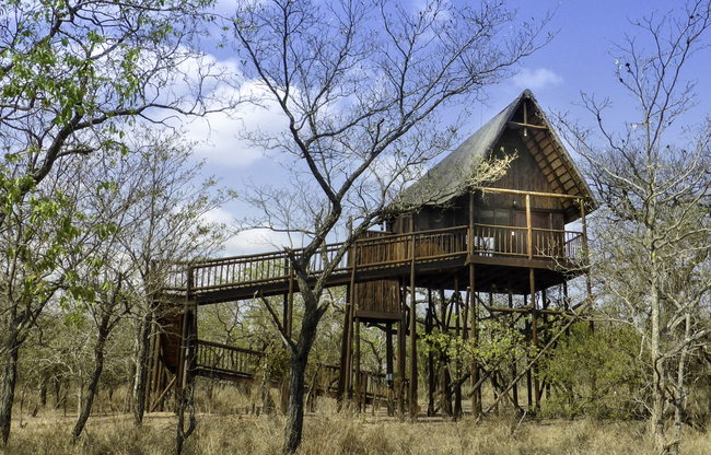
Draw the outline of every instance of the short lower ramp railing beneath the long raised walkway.
M195 369L206 373L226 373L254 377L263 352L218 342L196 340Z

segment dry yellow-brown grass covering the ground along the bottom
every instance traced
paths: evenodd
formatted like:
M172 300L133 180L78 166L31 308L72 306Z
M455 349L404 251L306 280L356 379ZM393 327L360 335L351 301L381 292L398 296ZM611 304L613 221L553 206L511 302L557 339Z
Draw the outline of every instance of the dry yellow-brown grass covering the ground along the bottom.
M278 454L283 417L244 413L247 406L219 407L219 413L201 413L185 454ZM242 413L234 413L234 411ZM25 419L13 428L4 453L24 454L172 454L175 416L149 415L141 429L126 415L90 419L81 441L69 441L73 418L51 411ZM335 410L324 401L306 417L301 454L648 454L651 445L644 422L524 421L492 417L480 423L470 419L448 422L421 418L399 421L384 413L353 415ZM681 453L711 453L711 433L685 429ZM0 453L3 453L0 450Z

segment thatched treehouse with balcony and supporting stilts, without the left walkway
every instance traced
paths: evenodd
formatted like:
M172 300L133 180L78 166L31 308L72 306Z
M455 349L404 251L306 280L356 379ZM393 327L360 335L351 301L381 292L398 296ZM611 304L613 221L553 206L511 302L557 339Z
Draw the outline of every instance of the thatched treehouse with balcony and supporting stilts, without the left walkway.
M502 175L499 172L496 179L486 178L502 166ZM537 345L537 316L569 310L567 282L587 267L584 220L596 202L529 91L408 187L393 206L398 213L387 221L387 232L378 234L377 241L362 240L353 248L353 267L389 267L383 269L383 280L354 283L352 320L347 320L345 337L357 332L360 323L384 326L388 334L387 374L394 377L391 337L393 324L397 324L398 371L404 378L403 338L408 332L410 402L417 400L417 336L410 329L417 325L418 312L410 311L417 305L416 289L428 290L424 331L431 332L436 319L442 332L456 331L465 339L478 336L480 312L489 317L525 313L529 316L527 336ZM566 229L581 219L580 230ZM559 310L549 308L549 290L553 288L559 289ZM432 302L433 290L440 293L439 312ZM445 292L451 295L448 303ZM496 307L494 294L505 295L508 307ZM514 307L514 295L522 302L518 307ZM446 322L453 312L458 315L456 327ZM351 355L350 343L345 339L346 359ZM349 376L359 374L359 347L353 349L356 368L343 363L342 393L349 387L358 389L358 380ZM479 368L471 370L473 383L478 382ZM443 380L440 394L448 385ZM433 392L430 387L430 400ZM537 405L539 385L531 384L529 374L528 396ZM473 406L480 406L477 394L474 397Z

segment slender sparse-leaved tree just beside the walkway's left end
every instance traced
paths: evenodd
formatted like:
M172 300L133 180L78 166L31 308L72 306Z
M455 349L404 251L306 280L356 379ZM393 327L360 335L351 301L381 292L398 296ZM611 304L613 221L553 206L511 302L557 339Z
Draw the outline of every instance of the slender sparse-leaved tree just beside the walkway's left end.
M190 144L179 133L145 131L132 145L133 158L115 178L113 202L130 207L121 218L118 249L130 264L128 292L136 322L133 422L143 419L148 341L153 328L153 294L171 264L214 255L234 232L211 222L208 213L235 197L212 178L201 178L202 163L191 164Z

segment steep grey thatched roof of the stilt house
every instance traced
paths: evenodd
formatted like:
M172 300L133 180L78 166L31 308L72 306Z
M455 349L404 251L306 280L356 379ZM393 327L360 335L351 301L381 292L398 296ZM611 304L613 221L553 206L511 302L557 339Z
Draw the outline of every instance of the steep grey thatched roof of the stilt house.
M518 131L553 192L580 196L588 210L597 207L593 192L529 90L525 90L418 182L405 189L396 203L408 207L444 206L467 194L470 182L476 179L473 178L473 173L477 172L482 161L491 160L496 145L506 129ZM564 205L571 203L568 200Z

